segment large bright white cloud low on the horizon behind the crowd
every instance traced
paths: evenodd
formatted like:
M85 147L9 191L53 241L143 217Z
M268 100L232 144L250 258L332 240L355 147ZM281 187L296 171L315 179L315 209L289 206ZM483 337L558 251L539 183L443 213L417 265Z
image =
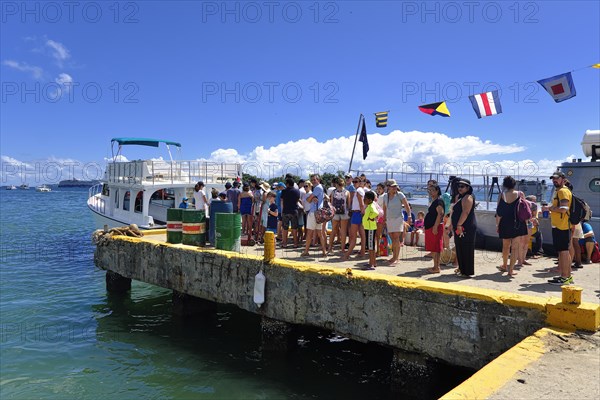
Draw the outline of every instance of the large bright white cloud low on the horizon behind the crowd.
M362 159L362 143L356 142L353 170L395 172L438 172L442 174L481 174L544 176L565 160L489 161L486 156L518 154L525 147L493 143L476 136L450 137L436 132L369 134L369 153ZM256 147L247 154L234 149L218 149L210 160L239 162L245 171L269 178L291 172L308 173L346 171L354 146L354 137L338 137L319 142L314 138Z

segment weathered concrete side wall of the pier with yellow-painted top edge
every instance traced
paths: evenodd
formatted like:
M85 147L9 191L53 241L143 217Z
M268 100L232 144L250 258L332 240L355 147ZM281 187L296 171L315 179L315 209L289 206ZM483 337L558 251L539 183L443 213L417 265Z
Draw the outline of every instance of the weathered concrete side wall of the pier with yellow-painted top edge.
M95 253L99 268L263 317L326 328L432 360L479 369L548 325L596 330L599 306L344 270L116 236ZM267 278L253 303L254 275Z

